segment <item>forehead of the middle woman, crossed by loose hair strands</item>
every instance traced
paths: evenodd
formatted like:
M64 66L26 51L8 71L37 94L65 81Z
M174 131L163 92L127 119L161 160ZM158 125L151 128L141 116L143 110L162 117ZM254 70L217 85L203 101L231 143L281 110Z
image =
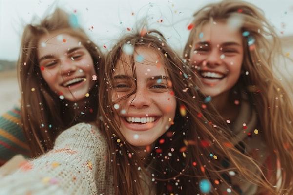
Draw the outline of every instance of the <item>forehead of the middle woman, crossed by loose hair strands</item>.
M122 72L132 74L132 64L137 73L145 72L147 74L167 74L165 60L160 51L155 51L147 47L135 48L133 55L123 53L115 65L114 75Z

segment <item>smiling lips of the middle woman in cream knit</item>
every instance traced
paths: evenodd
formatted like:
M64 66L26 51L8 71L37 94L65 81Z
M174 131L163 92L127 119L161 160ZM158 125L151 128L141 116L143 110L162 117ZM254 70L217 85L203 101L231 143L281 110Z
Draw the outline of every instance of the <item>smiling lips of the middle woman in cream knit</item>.
M121 121L123 122L124 126L129 129L129 130L132 130L132 131L147 131L151 128L153 128L161 119L161 117L159 116L141 116L141 117L138 117L138 116L131 116L131 117L134 117L134 118L149 118L149 120L151 120L151 118L154 119L153 122L146 122L146 123L140 123L140 122L128 122L126 120L126 118L128 118L130 116L122 116L120 117ZM143 119L144 120L144 119Z

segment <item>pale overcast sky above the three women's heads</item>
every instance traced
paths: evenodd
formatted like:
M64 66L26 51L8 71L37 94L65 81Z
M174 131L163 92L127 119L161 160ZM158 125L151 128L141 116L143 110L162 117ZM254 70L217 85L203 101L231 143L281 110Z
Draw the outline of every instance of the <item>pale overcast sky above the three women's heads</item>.
M150 26L162 30L169 43L181 50L192 13L213 1L218 0L0 0L0 59L17 60L23 26L34 16L42 18L56 4L69 13L75 11L80 25L103 49L147 14ZM280 36L293 35L293 0L246 1L265 11Z

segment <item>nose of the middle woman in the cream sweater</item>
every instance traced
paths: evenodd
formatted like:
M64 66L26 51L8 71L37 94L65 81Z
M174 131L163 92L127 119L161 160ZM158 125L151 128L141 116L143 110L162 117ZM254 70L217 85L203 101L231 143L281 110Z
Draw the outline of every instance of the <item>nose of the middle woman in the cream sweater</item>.
M138 87L136 92L129 97L128 103L132 108L146 108L150 106L151 99L147 90Z

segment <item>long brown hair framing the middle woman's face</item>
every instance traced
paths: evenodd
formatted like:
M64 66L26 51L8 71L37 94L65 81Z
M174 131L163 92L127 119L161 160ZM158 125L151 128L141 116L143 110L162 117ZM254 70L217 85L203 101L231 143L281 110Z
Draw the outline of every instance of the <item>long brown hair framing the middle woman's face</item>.
M107 137L110 154L112 154L110 160L114 175L115 194L137 195L144 193L142 190L147 179L155 185L156 194L194 193L194 190L198 189L196 183L180 182L176 178L181 178L181 175L185 174L185 168L188 169L188 174L190 173L186 159L193 159L193 152L191 153L191 150L189 152L189 146L193 150L198 148L198 133L201 131L215 133L218 129L206 119L205 116L209 116L209 114L202 113L205 112L200 107L203 102L198 96L195 82L189 79L181 58L168 46L160 32L143 32L146 31L129 33L120 39L107 54L105 67L103 66L103 70L100 71L102 75L100 76L98 112L102 121L99 123L99 127ZM133 47L134 52L137 48L146 48L158 53L158 63L166 65L166 71L171 79L172 90L176 97L174 124L158 139L161 141L157 141L154 148L147 149L146 147L146 152L149 153L149 158L145 159L147 163L141 159L141 154L127 143L119 130L119 121L114 120L114 114L117 111L113 109L115 102L112 102L113 74L115 65L119 60L123 60L121 57L126 53L123 49L124 45ZM127 65L132 68L135 85L136 74L133 55L128 56L127 54L127 58L131 61ZM207 155L208 153L204 156ZM146 173L148 177L141 177L142 173ZM187 177L189 178L189 176Z

